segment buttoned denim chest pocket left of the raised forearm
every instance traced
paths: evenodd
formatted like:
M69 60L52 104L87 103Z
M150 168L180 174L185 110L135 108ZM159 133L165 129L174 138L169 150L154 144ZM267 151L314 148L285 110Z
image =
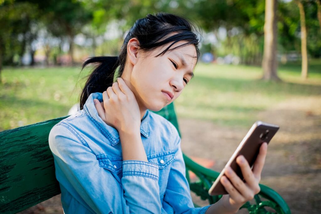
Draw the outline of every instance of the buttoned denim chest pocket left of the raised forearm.
M99 166L108 169L116 174L123 171L123 157L108 157L107 155L97 155Z

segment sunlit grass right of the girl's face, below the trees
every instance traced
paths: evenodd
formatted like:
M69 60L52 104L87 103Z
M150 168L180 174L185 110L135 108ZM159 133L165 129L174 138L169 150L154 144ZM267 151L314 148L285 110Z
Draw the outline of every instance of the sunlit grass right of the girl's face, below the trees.
M199 64L195 78L175 101L178 117L248 127L260 120L260 111L273 105L287 99L321 95L321 69L312 70L313 78L302 80L298 69L289 72L283 67L279 68L282 82L267 82L260 80L260 67ZM321 65L315 67L318 68Z

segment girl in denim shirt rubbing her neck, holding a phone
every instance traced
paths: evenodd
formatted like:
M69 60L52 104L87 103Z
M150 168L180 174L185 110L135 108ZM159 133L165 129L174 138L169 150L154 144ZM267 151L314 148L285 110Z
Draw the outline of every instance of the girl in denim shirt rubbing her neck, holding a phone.
M176 128L159 111L182 93L199 57L195 28L168 13L135 22L117 57L99 63L82 91L76 114L49 134L64 212L236 213L260 191L264 143L253 171L238 163L221 182L229 194L194 208ZM116 68L117 81L114 82Z

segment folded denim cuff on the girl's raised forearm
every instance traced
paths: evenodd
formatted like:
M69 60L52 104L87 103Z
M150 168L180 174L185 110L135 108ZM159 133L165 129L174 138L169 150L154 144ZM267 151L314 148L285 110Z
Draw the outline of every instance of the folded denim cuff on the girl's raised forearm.
M149 177L158 181L158 165L142 160L124 160L123 176L128 175Z

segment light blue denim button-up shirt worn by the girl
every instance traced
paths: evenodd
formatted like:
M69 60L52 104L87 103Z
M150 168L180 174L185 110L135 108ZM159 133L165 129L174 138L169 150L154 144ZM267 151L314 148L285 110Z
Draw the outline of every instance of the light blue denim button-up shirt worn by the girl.
M49 134L61 202L69 213L205 213L195 208L178 131L147 110L140 133L148 161L123 160L117 129L99 117L92 93Z

